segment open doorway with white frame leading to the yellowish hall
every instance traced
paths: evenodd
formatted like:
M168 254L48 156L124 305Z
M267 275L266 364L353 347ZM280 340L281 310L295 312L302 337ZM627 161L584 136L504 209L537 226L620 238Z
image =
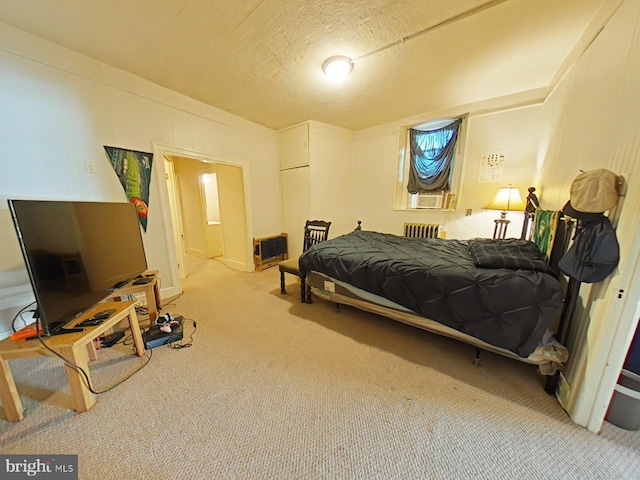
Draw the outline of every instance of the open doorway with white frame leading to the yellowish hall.
M159 144L155 151L164 160L163 217L173 233L176 275L188 275L186 255L252 271L248 164Z

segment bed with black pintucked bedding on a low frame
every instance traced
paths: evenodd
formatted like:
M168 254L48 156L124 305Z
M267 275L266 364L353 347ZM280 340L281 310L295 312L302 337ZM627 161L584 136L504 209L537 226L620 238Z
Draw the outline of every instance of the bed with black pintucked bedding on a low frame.
M469 343L476 360L479 349L489 350L553 375L568 352L550 331L564 297L550 257L525 239L356 229L307 250L300 274L306 301L314 294L351 305Z

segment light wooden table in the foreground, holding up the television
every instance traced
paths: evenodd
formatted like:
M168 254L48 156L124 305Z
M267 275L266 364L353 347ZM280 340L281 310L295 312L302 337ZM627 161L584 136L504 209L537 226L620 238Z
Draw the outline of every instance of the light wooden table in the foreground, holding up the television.
M127 317L129 319L129 326L131 327L136 353L139 357L144 355L144 342L142 340L135 306L136 302L134 301L99 303L81 317L70 322L68 327L72 328L103 310L115 309L116 311L100 325L86 327L83 332L42 337L43 341L49 348L60 354L63 358L82 368L90 380L89 360L95 359L93 341ZM7 360L39 356L54 356L54 354L42 345L37 338L16 341L5 338L0 341L0 399L2 399L5 417L10 422L22 420L23 412L20 396L18 395ZM65 368L71 387L72 408L76 412L86 412L96 403L96 397L85 385L83 375L80 371L66 364Z

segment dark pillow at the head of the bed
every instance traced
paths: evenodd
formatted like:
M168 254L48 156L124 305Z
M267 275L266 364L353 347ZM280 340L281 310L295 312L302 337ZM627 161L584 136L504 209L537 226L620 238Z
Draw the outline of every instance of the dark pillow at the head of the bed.
M477 267L510 268L553 273L538 246L528 240L469 240L469 253Z

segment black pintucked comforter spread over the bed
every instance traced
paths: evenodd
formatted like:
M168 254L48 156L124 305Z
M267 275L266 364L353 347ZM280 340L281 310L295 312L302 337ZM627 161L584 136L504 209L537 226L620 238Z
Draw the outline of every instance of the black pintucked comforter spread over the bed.
M525 240L354 231L303 253L303 281L310 270L521 357L535 350L562 304L560 284L538 247Z

